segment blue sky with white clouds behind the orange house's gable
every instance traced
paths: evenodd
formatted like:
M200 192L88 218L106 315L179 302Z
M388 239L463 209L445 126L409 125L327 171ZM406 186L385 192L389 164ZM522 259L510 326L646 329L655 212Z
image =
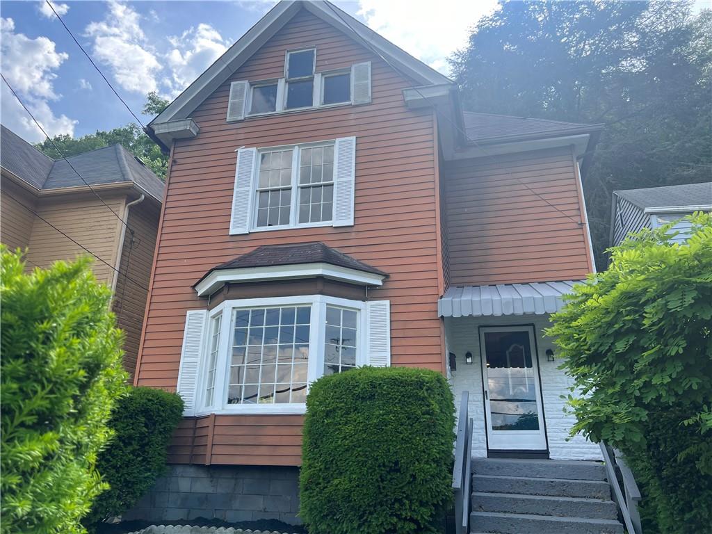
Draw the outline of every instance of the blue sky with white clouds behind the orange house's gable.
M698 6L705 1L697 0ZM53 1L136 113L150 90L167 98L179 94L274 4L274 0ZM446 57L464 46L468 28L496 9L496 0L449 0L447 9L435 11L431 0L336 4L444 73ZM132 120L44 1L3 0L0 16L2 72L50 135L76 137ZM0 99L4 125L28 141L43 140L4 83Z

